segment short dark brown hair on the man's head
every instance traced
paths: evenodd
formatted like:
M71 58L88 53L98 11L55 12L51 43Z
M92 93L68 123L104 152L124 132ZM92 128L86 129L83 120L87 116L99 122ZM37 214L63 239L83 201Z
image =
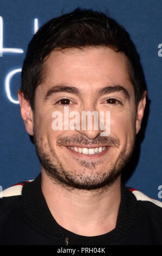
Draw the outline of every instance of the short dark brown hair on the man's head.
M77 8L49 20L29 42L21 73L21 91L34 111L35 89L46 76L43 63L54 50L106 46L127 57L136 106L146 89L140 57L126 29L102 12Z

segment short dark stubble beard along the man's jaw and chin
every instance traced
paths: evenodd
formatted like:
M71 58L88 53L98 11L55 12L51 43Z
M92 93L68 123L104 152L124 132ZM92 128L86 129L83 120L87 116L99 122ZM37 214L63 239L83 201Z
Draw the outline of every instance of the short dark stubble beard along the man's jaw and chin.
M129 150L122 150L116 162L113 163L112 160L109 168L103 172L96 170L96 166L103 163L101 160L90 162L76 157L76 162L82 168L82 172L78 172L78 170L67 170L63 167L55 152L52 149L47 150L47 145L43 144L42 139L38 138L35 127L33 137L36 154L46 174L52 182L67 188L67 190L107 190L119 178L123 167L129 161L134 150L134 145Z

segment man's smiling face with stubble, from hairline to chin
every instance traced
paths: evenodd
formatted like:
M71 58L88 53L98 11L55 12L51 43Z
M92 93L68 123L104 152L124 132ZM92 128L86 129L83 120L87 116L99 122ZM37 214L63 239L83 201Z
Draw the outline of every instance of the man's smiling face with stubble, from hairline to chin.
M108 47L71 49L53 51L45 66L46 78L35 92L34 113L42 171L60 184L76 188L111 184L130 158L137 132L126 57ZM80 117L82 111L110 111L110 135L101 136L100 129L54 131L52 113L63 113L64 122L67 107Z

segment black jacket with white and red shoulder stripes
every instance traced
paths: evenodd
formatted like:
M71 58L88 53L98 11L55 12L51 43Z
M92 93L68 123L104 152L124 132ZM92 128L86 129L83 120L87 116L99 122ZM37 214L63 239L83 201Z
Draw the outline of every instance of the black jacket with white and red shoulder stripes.
M162 245L162 203L123 185L121 192L116 228L108 234L106 244ZM65 245L67 241L76 245L48 209L41 191L41 174L34 181L4 190L0 199L0 245ZM98 241L105 245L105 240Z

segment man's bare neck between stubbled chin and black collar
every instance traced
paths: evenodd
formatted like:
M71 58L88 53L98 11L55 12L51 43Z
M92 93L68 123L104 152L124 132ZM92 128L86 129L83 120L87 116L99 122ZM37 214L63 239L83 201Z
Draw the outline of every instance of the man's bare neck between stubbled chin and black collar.
M121 202L121 178L105 190L67 190L42 170L42 193L55 221L84 236L108 233L116 226Z

